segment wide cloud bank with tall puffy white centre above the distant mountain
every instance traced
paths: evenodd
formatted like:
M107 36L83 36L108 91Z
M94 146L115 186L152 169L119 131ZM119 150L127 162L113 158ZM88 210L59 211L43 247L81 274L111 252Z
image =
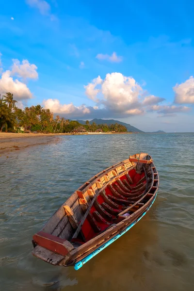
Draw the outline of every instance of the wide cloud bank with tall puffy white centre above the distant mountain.
M161 105L165 99L154 95L145 96L143 88L132 77L121 73L100 76L84 86L86 96L94 101L94 106L61 104L58 99L44 100L44 107L53 113L64 114L68 118L123 118L156 111L158 117L187 113L191 108L177 105Z

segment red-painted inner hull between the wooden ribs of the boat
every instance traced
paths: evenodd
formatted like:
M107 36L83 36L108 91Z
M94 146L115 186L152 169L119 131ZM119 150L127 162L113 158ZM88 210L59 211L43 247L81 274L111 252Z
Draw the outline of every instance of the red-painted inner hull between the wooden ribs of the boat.
M117 201L114 200L113 198L115 197L115 198L124 199L125 201L129 201L129 197L123 196L122 194L120 194L120 197L119 197L119 193L118 193L118 191L117 191L117 188L115 188L115 185L118 185L118 186L120 187L120 189L121 189L122 191L124 191L124 192L126 192L126 188L129 187L130 189L128 188L128 194L130 194L130 193L134 193L135 190L133 190L133 189L131 189L131 188L136 187L138 181L140 181L142 178L145 177L145 173L144 173L144 172L143 172L142 174L137 174L137 173L136 173L136 170L135 170L134 168L131 169L131 170L128 172L128 174L129 174L129 176L130 176L130 178L131 178L131 180L132 180L132 183L129 182L129 179L127 178L126 175L123 175L122 177L120 177L120 181L122 182L120 185L119 185L119 183L118 183L117 181L115 181L115 182L112 183L112 186L113 186L114 190L116 190L116 192L117 192L116 196L115 196L115 193L112 191L112 189L110 189L110 187L107 186L107 187L105 188L105 193L106 193L107 197L108 197L111 201L113 201L114 203L116 203L117 206L118 206L118 208L117 208L117 209L114 208L114 210L113 210L113 209L112 209L112 210L110 210L110 209L105 209L106 212L108 212L109 214L111 214L111 216L112 216L112 217L111 217L111 220L108 220L107 218L101 216L101 220L100 220L100 221L97 221L97 219L95 219L95 217L94 217L94 211L98 211L98 210L96 209L95 205L93 205L92 208L91 208L91 210L90 210L90 214L91 214L91 216L93 217L93 222L91 223L91 216L90 216L90 219L88 219L88 217L87 217L86 220L84 221L82 227L81 227L81 232L80 232L79 236L78 236L76 239L73 239L72 242L79 242L79 243L87 242L87 241L91 240L92 238L94 238L95 236L97 236L99 233L103 232L103 231L104 231L105 229L107 229L108 227L110 227L112 224L114 224L114 223L118 223L117 215L118 215L122 210L124 210L124 207L125 207L126 205L129 205L129 203L125 205L124 203L121 203L121 202L120 202L120 203L118 204ZM127 181L127 182L126 182L126 181ZM124 183L124 182L125 182L125 183ZM141 182L140 184L141 184L141 186L142 186L142 185L145 185L145 184L146 184L146 179L144 179L144 181ZM140 184L139 184L139 185L140 185ZM123 189L122 189L122 187L121 187L122 185L125 185L126 188L123 187ZM128 186L128 185L129 185L129 186ZM141 187L138 187L138 188L141 188ZM136 189L137 189L137 188L136 188ZM139 196L139 195L143 194L144 191L145 191L145 188L143 188L143 189L140 190L140 191L137 189L137 190L135 191L133 197L134 197L134 196ZM130 201L131 201L131 200L133 200L133 199L130 199ZM138 199L134 200L134 202L137 201L137 200L138 200ZM145 201L146 201L146 200L144 199L144 202L145 202ZM141 202L142 202L142 201L141 201ZM101 207L104 209L104 205L102 205L102 203L106 203L106 201L105 201L105 199L104 199L103 196L98 195L98 197L97 197L97 203L100 204ZM141 207L141 205L140 205L140 206L135 206L135 210L139 209L140 207ZM131 213L133 213L135 210L131 209L131 211L129 211L128 213L131 214ZM124 219L124 218L123 218L123 219ZM98 220L99 220L99 219L98 219ZM121 220L122 220L122 219L121 219ZM120 220L120 221L121 221L121 220ZM96 227L94 227L94 224L97 225L97 227L99 227L100 231L97 231L97 230L95 231L95 230L94 230L94 228L96 228ZM81 235L81 234L82 234L82 235ZM84 238L84 240L83 240L83 238Z

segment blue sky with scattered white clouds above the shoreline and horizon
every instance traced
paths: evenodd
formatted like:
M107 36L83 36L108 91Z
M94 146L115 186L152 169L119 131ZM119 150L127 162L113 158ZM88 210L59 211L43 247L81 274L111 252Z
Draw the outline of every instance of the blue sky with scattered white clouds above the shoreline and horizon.
M7 0L0 92L66 118L194 131L193 9L193 1Z

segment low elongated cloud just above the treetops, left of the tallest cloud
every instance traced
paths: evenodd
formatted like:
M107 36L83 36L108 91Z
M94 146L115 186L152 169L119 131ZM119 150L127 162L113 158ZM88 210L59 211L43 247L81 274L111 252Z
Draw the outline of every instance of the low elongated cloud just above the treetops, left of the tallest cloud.
M61 113L65 114L65 116L71 115L74 117L81 117L90 113L90 109L84 104L81 106L74 106L73 103L60 104L58 99L43 100L43 105L45 108L49 108L53 113Z

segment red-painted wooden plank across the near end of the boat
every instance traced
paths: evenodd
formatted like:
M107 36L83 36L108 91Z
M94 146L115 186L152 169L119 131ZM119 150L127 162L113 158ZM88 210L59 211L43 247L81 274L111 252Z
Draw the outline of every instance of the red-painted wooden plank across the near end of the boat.
M34 234L33 240L36 244L62 256L66 256L71 250L74 249L70 242L44 231L39 231Z

